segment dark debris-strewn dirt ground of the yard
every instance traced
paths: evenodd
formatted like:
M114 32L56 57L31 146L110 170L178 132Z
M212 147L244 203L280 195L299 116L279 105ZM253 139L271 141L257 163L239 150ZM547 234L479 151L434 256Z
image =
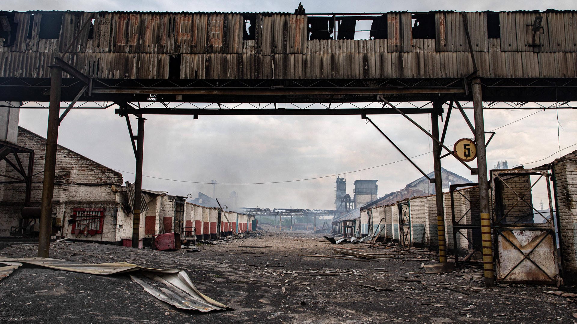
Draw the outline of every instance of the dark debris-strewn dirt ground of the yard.
M155 299L128 275L98 276L21 267L0 281L2 323L543 323L576 322L572 299L553 286L485 288L455 274L414 274L437 256L422 251L346 244L396 258L344 260L321 234L260 233L205 244L200 252L153 251L98 243L55 243L51 258L85 263L131 262L185 269L205 295L233 310L182 311ZM250 246L244 248L242 246ZM17 245L0 256L36 256ZM395 253L396 253L395 252ZM373 287L373 288L372 288ZM454 289L454 290L451 290ZM577 315L576 315L577 316Z

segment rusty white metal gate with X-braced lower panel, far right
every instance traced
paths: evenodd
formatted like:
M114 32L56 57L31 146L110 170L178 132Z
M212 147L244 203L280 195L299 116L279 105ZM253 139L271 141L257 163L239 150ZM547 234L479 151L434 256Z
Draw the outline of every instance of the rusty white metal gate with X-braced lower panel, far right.
M491 171L497 281L560 281L549 177L548 170ZM533 206L536 185L546 187L548 209Z

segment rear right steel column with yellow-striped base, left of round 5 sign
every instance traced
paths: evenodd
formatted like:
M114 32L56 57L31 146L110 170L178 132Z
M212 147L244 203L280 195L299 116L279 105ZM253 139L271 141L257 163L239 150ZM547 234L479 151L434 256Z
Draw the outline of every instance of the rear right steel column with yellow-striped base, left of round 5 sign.
M442 103L433 103L436 108L431 114L433 139L439 140L439 115ZM447 239L445 239L445 213L443 206L443 174L441 174L441 146L433 140L434 190L437 203L437 232L439 234L439 263L447 263Z

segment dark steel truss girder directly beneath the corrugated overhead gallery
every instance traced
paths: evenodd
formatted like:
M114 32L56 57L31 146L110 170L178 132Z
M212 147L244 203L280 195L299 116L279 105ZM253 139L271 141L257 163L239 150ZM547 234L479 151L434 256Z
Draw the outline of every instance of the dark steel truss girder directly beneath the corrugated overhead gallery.
M57 62L65 66L65 62ZM69 67L73 71L73 67ZM76 70L76 69L74 69ZM68 73L68 71L66 71ZM77 72L77 70L76 70ZM73 72L74 73L74 72ZM62 79L62 100L72 101L85 84L81 101L116 102L371 102L377 95L391 102L470 100L467 78L333 80L148 80L92 79L74 73ZM577 100L577 79L481 79L490 101ZM48 78L0 78L0 100L46 101Z

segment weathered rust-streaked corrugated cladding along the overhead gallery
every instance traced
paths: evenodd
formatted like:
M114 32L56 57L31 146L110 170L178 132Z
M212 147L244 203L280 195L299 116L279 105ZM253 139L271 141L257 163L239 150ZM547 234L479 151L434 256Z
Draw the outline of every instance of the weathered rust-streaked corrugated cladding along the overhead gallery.
M43 17L55 14L59 34L47 38ZM577 77L577 12L500 12L499 27L488 14L429 13L428 39L413 38L411 13L395 12L386 39L308 40L309 18L295 14L17 12L0 77L48 77L51 58L67 50L66 61L100 79L168 79L178 68L181 79L464 77L473 72L464 19L479 76ZM253 39L243 40L251 23Z

